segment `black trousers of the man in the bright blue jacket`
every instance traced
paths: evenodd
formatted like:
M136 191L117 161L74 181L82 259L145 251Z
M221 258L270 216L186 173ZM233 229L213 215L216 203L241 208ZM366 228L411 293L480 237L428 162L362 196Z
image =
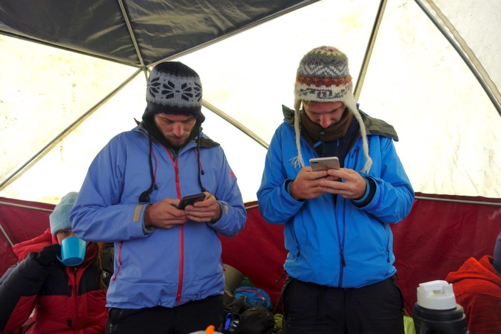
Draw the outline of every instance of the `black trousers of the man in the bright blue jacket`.
M404 334L403 297L393 278L360 288L288 278L284 334Z

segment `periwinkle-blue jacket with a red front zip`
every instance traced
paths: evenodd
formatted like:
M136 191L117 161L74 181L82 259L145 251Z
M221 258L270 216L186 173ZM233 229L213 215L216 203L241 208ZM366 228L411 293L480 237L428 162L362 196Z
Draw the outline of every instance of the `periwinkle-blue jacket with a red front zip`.
M89 167L71 210L73 231L92 241L115 242L114 275L107 306L172 307L223 293L221 243L217 236L235 235L244 225L243 200L219 144L200 140L201 183L222 205L215 223L187 221L169 229L143 228L147 204L139 195L151 184L148 136L138 127L113 137ZM153 168L158 189L151 203L200 192L196 143L172 160L153 141Z

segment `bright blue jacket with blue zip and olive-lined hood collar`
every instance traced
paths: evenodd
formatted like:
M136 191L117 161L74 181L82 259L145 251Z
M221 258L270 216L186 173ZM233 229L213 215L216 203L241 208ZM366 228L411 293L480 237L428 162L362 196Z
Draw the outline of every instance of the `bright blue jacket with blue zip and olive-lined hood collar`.
M272 138L258 201L269 223L285 224L288 254L284 268L294 278L334 287L361 287L396 272L389 224L410 212L414 191L393 145L392 137L398 139L393 127L361 114L373 161L363 176L371 177L377 187L373 199L361 208L340 195L334 206L330 193L295 200L286 189L287 181L294 180L300 171L291 162L297 155L292 119L286 119ZM301 152L306 164L318 156L303 136ZM344 166L360 171L364 163L359 137Z

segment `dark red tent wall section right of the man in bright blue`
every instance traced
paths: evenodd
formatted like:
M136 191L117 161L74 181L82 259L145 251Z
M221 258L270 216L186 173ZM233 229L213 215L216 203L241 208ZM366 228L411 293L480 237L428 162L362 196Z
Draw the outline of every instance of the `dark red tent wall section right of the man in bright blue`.
M430 197L421 193L416 196ZM445 279L469 257L492 255L501 231L501 199L475 203L482 198L435 197L415 199L410 214L392 225L394 265L410 314L419 283Z

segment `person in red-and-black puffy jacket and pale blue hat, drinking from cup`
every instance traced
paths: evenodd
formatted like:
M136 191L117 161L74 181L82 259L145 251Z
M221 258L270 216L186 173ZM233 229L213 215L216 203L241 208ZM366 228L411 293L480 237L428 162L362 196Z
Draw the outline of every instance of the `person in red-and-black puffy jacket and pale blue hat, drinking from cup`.
M0 332L104 332L112 248L88 242L77 266L57 259L62 240L75 235L69 212L77 194L61 198L42 235L13 246L19 262L0 278Z

